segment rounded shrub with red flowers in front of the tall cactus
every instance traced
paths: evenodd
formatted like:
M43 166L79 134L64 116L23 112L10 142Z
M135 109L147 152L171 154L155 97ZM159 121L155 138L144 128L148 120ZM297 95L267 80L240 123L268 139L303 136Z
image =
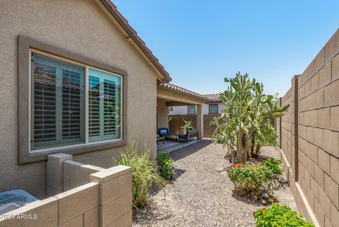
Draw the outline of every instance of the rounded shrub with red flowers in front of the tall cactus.
M258 198L262 192L273 193L273 174L265 165L232 164L227 175L242 196Z

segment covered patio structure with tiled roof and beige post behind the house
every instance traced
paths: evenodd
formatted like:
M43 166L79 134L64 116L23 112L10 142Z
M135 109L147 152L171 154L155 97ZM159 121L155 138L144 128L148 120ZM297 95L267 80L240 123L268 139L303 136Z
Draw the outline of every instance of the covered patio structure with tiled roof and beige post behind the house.
M175 86L171 83L161 83L157 85L157 129L167 128L169 129L168 107L180 106L180 105L195 105L196 106L196 130L198 130L198 138L203 138L203 103L208 101L204 95L189 91L185 88ZM175 132L176 134L182 134L183 132ZM196 139L196 140L197 140ZM195 141L196 141L195 140ZM175 140L158 141L157 149L169 149L169 147L186 146L194 141L188 141L186 143L179 143ZM182 145L179 145L182 144Z

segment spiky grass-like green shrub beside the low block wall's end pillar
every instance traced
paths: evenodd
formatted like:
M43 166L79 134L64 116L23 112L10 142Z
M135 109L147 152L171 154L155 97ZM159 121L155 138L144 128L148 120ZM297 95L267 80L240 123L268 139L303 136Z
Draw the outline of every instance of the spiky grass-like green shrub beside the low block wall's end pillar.
M138 152L138 144L134 141L126 146L121 153L117 165L126 165L132 168L132 193L133 206L141 208L147 203L147 192L153 183L161 189L165 186L165 180L157 173L157 165L150 161L150 151L146 144Z

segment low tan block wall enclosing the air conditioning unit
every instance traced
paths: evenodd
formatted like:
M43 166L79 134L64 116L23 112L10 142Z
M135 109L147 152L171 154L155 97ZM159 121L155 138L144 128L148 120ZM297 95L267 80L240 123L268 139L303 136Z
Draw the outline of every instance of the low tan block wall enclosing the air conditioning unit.
M131 227L131 168L97 168L71 159L64 153L49 156L48 198L6 213L0 226Z

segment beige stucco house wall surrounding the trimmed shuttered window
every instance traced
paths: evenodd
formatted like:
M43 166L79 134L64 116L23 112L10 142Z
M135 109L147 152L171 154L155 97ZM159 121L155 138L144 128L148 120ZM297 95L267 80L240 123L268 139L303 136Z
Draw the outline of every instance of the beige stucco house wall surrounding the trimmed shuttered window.
M26 35L128 73L128 136L155 156L156 74L93 0L1 1L0 7L0 191L21 188L44 197L45 162L18 165L16 37ZM142 120L141 120L142 119ZM121 149L74 156L107 168Z

